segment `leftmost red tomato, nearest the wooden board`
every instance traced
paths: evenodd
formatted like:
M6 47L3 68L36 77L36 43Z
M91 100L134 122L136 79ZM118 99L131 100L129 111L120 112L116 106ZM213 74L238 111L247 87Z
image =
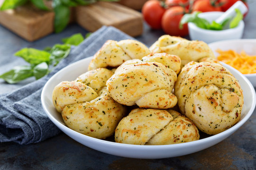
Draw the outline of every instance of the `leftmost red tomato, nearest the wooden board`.
M153 29L161 28L161 19L165 13L158 0L148 0L142 7L142 14L146 23Z

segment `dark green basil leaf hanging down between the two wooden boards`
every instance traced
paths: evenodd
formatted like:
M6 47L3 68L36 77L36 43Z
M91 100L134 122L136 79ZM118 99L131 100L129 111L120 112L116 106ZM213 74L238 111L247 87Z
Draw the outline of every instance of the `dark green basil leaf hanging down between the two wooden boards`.
M55 12L54 28L55 33L59 33L68 25L70 18L70 9L61 3L60 0L53 1L53 7Z

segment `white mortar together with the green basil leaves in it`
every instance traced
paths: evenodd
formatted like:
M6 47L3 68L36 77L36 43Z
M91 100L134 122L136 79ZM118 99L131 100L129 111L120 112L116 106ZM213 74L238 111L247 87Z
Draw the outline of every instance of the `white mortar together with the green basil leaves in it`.
M213 22L223 13L224 12L204 12L200 14L191 14L194 15L191 16L194 17L194 21L188 23L190 38L192 40L200 40L206 43L240 39L243 35L245 26L241 17L230 18L221 24Z

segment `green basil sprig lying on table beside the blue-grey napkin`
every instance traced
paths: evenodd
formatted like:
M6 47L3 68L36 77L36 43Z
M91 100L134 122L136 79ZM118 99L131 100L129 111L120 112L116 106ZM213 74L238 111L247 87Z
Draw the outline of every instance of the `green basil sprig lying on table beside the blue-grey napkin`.
M86 35L88 37L89 34ZM15 53L27 61L28 66L16 66L10 71L0 75L9 84L18 83L28 77L35 76L39 79L47 75L61 59L68 56L71 45L79 45L84 40L82 34L73 34L64 38L64 44L55 44L52 48L46 47L45 50L37 50L34 48L23 48Z

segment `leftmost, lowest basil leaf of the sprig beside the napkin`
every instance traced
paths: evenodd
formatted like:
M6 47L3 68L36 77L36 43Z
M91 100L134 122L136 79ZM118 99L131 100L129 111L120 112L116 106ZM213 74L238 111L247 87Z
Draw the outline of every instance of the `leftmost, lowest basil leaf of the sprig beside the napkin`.
M33 76L33 70L30 66L16 66L10 71L0 75L9 84L18 83L28 77Z

